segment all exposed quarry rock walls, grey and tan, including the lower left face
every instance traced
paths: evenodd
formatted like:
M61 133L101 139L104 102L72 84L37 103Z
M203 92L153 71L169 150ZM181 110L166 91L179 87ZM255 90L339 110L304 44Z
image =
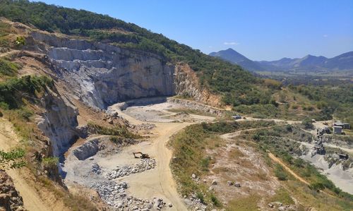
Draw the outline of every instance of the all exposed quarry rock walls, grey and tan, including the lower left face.
M219 106L220 99L201 88L186 64L167 64L146 52L45 32L31 32L35 52L47 55L46 65L64 81L66 90L90 107L107 109L116 102L140 97L188 95L198 102ZM50 138L58 157L78 137L78 112L66 97L49 92L43 102L47 113L39 128Z

